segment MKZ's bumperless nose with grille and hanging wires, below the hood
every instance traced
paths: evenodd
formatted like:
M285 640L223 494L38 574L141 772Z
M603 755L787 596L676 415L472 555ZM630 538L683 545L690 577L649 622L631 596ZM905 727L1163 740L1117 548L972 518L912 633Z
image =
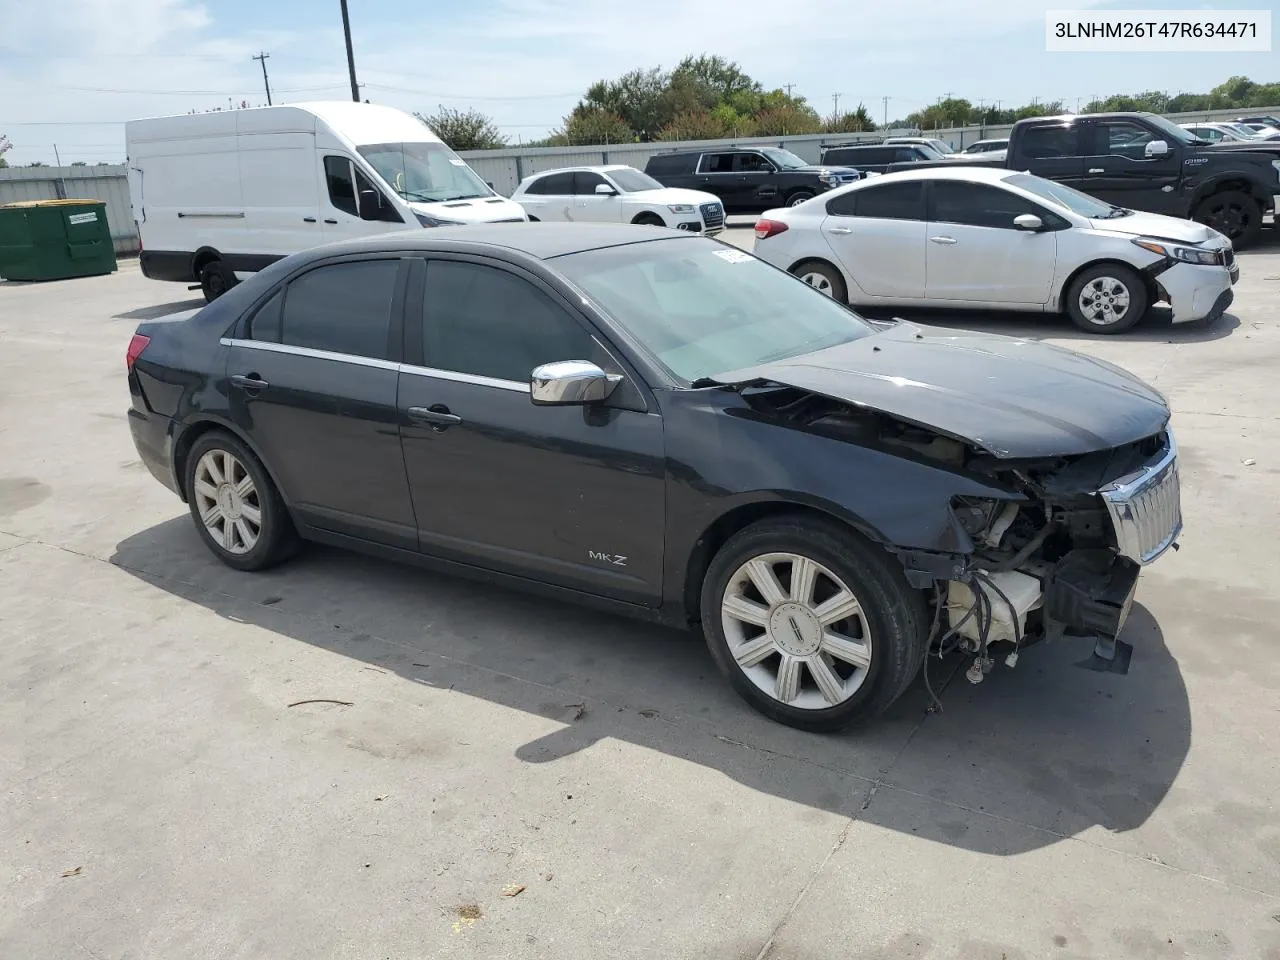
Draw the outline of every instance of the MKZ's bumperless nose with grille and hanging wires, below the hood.
M963 579L946 585L950 631L942 646L954 635L956 645L975 654L970 681L982 680L996 650L1011 644L1005 662L1012 667L1023 648L1060 637L1092 641L1093 653L1080 666L1128 672L1132 646L1120 632L1138 573L1175 547L1183 529L1172 433L1165 431L1160 444L1137 463L1117 458L1121 475L1092 490L1075 489L1094 476L1088 465L1069 465L1046 485L1044 526L1030 538L1014 530L1004 543L1014 524L1007 506L982 530L983 549Z

